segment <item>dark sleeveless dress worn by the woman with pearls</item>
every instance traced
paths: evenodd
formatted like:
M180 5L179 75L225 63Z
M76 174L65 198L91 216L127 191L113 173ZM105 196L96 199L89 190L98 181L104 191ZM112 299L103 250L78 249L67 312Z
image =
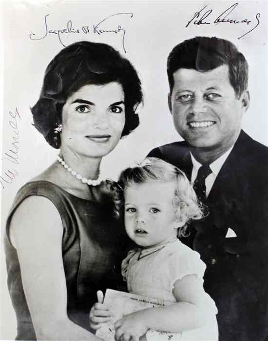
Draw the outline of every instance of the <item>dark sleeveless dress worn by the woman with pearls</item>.
M8 289L18 323L16 340L37 339L23 291L17 251L9 240L9 226L14 212L29 196L46 197L57 207L63 225L62 258L67 284L67 314L71 321L92 331L89 311L96 302L97 290L105 292L106 288L122 288L120 267L128 243L123 224L113 218L112 201L106 187L106 183L97 187L101 191L101 202L78 198L48 181L29 182L19 190L7 219L4 236ZM46 293L40 295L45 300Z

